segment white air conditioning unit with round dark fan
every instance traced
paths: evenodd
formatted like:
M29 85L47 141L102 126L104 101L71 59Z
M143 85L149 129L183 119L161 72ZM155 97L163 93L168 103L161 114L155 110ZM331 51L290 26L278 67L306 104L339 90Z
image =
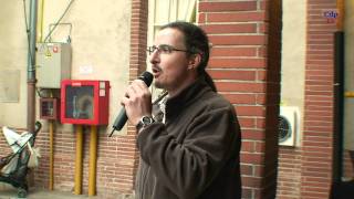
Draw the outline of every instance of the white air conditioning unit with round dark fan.
M279 114L279 145L295 146L299 136L299 108L295 106L280 106Z

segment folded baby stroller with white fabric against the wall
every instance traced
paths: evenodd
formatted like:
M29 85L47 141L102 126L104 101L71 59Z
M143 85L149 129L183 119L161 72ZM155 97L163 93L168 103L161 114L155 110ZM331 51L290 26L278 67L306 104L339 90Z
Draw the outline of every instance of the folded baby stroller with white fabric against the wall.
M3 127L2 133L9 143L12 153L0 158L0 181L10 184L18 189L18 197L25 198L28 192L27 174L31 157L31 147L34 146L35 136L41 129L41 123L35 123L34 133L15 132Z

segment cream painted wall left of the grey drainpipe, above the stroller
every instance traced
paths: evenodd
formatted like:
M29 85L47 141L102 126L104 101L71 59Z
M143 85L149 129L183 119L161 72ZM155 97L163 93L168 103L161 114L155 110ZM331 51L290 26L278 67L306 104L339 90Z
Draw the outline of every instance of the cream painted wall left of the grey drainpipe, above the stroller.
M20 71L18 102L0 102L0 125L25 127L27 124L27 35L23 1L1 1L0 73ZM3 93L2 93L3 94Z

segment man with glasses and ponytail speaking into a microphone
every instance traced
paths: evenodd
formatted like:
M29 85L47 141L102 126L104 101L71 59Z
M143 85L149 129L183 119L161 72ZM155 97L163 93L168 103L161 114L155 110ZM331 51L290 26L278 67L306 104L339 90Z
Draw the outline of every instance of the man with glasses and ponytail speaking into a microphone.
M155 86L168 95L153 112L149 90L136 80L122 100L138 132L136 198L241 198L240 126L233 105L206 72L206 33L192 23L171 22L148 52Z

